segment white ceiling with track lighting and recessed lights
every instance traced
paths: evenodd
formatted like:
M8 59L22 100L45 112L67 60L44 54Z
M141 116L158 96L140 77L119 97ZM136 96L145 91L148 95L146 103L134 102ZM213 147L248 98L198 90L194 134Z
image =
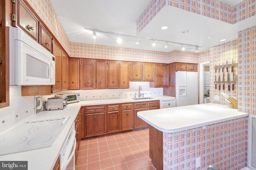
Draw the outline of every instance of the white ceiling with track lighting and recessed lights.
M69 40L77 43L108 45L133 49L169 52L180 50L180 44L169 44L165 41L200 46L199 51L206 51L214 45L221 44L220 39L227 41L237 39L237 32L256 25L256 16L234 25L194 14L172 6L164 6L160 12L137 35L137 19L152 0L50 0ZM233 6L241 0L220 0ZM161 30L162 25L169 25ZM117 35L97 32L92 39L92 31L84 28L98 29L124 35L160 39L152 47L152 40L140 39L136 45L135 37L122 36L122 44L116 42ZM189 33L182 34L182 31ZM211 39L206 39L213 36ZM185 51L195 52L195 47L188 46Z

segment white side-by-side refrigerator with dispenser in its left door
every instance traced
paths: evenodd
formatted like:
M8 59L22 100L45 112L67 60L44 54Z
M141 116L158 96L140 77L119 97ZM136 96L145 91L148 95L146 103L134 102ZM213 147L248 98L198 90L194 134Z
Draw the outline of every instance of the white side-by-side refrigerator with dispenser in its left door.
M198 73L176 72L176 107L198 104Z

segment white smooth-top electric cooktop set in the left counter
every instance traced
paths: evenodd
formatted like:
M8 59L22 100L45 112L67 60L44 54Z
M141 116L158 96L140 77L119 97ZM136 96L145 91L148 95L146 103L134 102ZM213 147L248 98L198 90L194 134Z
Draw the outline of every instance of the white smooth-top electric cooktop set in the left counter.
M70 117L26 121L0 135L0 155L51 147Z

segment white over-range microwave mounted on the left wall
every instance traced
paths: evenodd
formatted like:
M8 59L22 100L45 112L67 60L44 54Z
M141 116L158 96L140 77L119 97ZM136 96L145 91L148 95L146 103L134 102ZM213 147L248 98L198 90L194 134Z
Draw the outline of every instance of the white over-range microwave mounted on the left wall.
M55 84L55 57L24 31L9 27L10 85Z

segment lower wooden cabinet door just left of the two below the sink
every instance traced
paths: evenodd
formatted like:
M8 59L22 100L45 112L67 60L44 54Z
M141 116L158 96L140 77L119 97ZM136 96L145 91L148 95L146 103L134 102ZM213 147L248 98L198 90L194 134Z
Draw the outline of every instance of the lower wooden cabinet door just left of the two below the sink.
M121 131L126 131L126 130L132 130L133 129L133 113L131 110L122 110L121 112Z

